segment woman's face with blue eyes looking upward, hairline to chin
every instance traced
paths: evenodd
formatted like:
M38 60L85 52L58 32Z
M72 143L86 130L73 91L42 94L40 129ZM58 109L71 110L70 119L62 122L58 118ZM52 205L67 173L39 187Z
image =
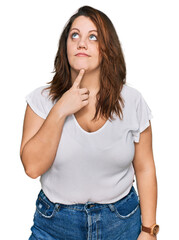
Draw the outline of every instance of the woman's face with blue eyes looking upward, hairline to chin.
M71 70L99 70L100 56L97 28L89 17L77 17L67 38L67 57Z

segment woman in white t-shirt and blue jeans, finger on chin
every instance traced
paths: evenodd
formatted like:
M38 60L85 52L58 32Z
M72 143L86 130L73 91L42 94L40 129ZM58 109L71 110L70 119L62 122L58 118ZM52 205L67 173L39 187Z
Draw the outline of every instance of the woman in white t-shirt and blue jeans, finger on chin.
M152 115L125 77L113 24L81 7L62 32L50 86L26 96L20 156L42 186L29 239L156 239Z

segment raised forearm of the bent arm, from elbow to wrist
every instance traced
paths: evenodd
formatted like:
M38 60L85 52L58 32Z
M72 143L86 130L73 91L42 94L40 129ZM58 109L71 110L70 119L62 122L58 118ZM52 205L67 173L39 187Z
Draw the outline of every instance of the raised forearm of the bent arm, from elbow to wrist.
M39 131L24 146L22 163L28 176L37 178L52 165L64 121L65 116L57 112L54 106Z

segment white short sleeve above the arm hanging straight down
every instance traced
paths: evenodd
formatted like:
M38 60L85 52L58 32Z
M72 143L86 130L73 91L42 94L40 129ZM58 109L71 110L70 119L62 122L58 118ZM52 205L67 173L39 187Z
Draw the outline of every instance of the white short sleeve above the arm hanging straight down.
M152 111L146 103L144 97L141 93L139 93L139 99L136 106L136 121L137 121L137 129L132 132L134 142L139 142L140 133L143 132L149 125L153 118Z

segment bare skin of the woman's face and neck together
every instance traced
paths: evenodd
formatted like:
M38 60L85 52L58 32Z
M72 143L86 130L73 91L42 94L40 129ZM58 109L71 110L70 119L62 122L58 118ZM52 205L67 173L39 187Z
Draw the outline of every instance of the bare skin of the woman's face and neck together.
M67 38L67 57L71 66L72 83L81 69L85 70L80 87L86 87L90 95L100 89L100 55L98 33L94 23L88 17L79 16L70 28ZM75 56L85 53L88 56Z

